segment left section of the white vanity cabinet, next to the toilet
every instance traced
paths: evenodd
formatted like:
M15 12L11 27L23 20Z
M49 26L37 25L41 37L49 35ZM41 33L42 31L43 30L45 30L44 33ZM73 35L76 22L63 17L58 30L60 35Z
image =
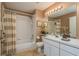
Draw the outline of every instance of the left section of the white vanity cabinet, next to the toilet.
M59 44L48 39L44 40L44 54L47 56L59 56Z

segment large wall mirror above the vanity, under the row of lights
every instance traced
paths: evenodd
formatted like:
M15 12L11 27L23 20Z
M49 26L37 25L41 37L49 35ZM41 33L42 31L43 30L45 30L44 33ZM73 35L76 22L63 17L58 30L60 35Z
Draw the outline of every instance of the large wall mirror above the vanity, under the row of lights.
M76 38L76 4L48 16L48 33L68 34Z

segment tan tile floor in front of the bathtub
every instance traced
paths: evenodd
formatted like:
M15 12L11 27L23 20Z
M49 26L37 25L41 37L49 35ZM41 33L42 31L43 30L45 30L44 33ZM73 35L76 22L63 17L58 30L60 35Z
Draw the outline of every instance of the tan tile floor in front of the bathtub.
M44 56L44 54L42 52L38 52L37 49L30 49L17 52L16 56Z

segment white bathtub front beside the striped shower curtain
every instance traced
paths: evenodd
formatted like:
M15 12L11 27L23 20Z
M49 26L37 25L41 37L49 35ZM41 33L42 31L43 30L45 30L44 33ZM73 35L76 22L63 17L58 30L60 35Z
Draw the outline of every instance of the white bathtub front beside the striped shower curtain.
M22 51L22 50L29 50L34 48L35 43L34 42L25 42L25 43L16 43L16 51Z

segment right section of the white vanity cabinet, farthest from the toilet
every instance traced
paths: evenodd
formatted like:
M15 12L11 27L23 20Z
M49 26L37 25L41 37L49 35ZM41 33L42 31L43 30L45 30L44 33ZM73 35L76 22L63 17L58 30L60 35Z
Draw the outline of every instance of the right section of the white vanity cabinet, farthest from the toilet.
M79 49L60 43L60 55L64 55L62 51L66 51L70 55L79 56ZM68 55L69 56L69 55Z

